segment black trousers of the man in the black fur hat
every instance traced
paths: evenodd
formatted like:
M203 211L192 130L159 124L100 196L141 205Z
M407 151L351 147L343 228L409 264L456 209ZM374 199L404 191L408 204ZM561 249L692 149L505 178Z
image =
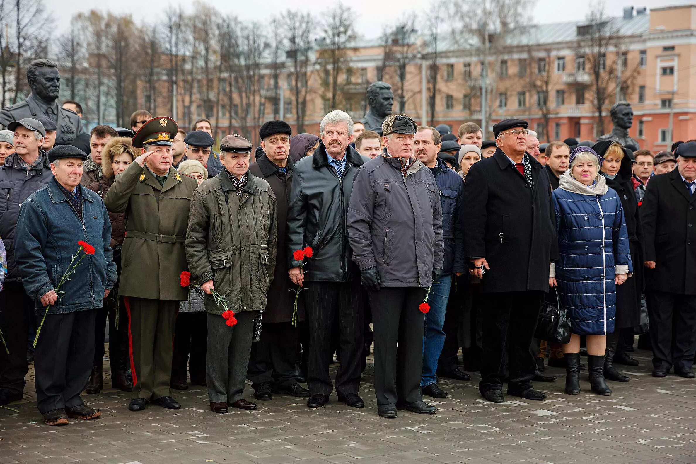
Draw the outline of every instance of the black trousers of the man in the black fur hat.
M295 367L299 330L292 322L264 323L261 338L251 345L251 358L246 378L254 390L269 382L272 388L290 387L297 383Z

